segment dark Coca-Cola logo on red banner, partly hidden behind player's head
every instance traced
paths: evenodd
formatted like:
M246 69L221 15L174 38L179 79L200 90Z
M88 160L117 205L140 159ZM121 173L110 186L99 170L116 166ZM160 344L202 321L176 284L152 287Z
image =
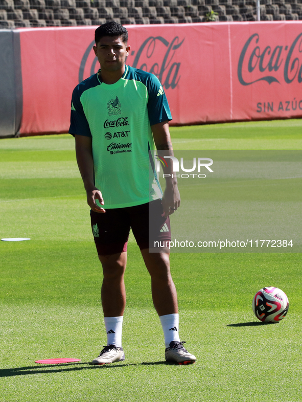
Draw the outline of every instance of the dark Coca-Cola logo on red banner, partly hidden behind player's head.
M126 63L132 67L153 73L167 90L177 86L180 80L181 62L177 59L177 49L184 41L175 36L171 41L162 36L150 36L138 50L130 51ZM79 69L79 82L95 74L99 69L98 58L92 50L92 41L84 52ZM133 60L133 61L132 61Z

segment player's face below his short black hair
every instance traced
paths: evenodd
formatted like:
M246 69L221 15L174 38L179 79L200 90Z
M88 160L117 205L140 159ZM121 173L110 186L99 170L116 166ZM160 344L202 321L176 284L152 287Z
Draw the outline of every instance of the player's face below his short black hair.
M113 72L123 69L130 46L123 42L121 36L103 36L97 46L94 46L94 51L101 70Z

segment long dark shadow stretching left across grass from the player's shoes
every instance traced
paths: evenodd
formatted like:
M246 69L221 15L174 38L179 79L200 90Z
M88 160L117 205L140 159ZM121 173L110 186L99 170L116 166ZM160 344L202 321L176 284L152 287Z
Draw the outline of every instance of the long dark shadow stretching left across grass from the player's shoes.
M67 371L80 371L80 370L97 370L97 369L111 369L115 367L128 367L128 366L147 366L147 365L158 365L158 364L166 364L171 365L174 363L170 362L143 362L143 363L130 363L130 364L104 364L104 365L95 365L91 363L73 363L71 364L52 364L52 365L41 365L41 368L38 366L27 366L27 367L15 367L8 369L0 369L0 377L13 377L17 375L28 375L28 374L53 374L53 373L61 373ZM65 366L65 367L64 367ZM67 367L68 368L67 368ZM71 367L72 366L72 367ZM74 367L77 366L77 367Z

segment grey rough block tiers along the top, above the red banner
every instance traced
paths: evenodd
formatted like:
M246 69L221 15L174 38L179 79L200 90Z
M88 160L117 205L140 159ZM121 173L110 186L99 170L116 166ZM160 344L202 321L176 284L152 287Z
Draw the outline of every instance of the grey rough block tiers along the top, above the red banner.
M302 19L302 0L261 0L263 21ZM255 21L255 0L0 0L0 28Z

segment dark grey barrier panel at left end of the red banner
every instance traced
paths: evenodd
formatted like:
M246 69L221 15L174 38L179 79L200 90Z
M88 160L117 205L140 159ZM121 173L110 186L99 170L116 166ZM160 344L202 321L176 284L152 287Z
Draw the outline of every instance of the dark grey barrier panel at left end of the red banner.
M20 37L0 30L0 137L13 137L22 116Z

